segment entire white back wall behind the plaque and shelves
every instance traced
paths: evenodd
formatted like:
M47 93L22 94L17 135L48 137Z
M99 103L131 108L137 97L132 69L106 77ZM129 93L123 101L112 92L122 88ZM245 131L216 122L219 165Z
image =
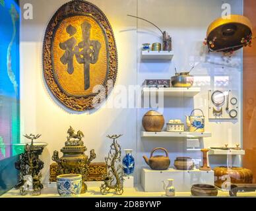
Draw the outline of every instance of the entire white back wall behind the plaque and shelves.
M46 26L55 11L65 0L21 0L32 3L34 19L22 19L20 28L20 98L21 98L21 133L40 133L41 141L48 142L43 154L45 168L44 182L48 181L49 164L53 150L60 150L66 140L69 125L84 132L84 142L88 148L94 148L96 162L104 162L110 141L106 135L123 134L119 142L122 148L135 149L137 163L136 179L139 181L139 170L144 165L143 154L149 155L154 147L165 147L170 152L172 163L176 156L188 155L200 158L199 152L186 151L184 140L148 140L141 139L141 119L148 109L109 109L101 108L91 113L69 113L60 107L46 90L42 70L42 44ZM131 84L142 84L144 79L170 78L174 75L174 67L178 70L188 69L193 58L199 59L201 65L193 71L195 76L214 75L230 76L228 88L241 90L241 52L232 57L230 67L222 61L221 55L208 55L202 49L208 24L221 15L222 1L218 0L94 0L90 1L105 13L110 20L117 42L119 70L117 85L127 87ZM241 0L228 1L232 5L232 13L241 13ZM127 14L142 16L151 20L163 30L170 32L173 38L175 56L170 63L141 62L141 44L160 41L159 32L143 21L126 16ZM210 60L210 62L209 62ZM212 61L212 62L211 62ZM221 63L218 65L217 63ZM233 65L234 66L234 65ZM224 67L224 69L222 69ZM203 92L195 99L166 100L164 116L168 119L183 119L189 115L193 107L200 107L207 114L207 90L212 85L202 87ZM118 93L113 92L112 97ZM240 93L241 97L241 93ZM241 98L240 98L241 99ZM112 98L108 100L110 104ZM184 119L183 119L184 120ZM208 122L207 131L212 138L205 140L205 146L219 146L226 142L241 142L241 116L237 123ZM227 131L230 129L230 133ZM228 136L231 134L232 136ZM24 141L24 139L22 140ZM88 154L87 152L87 154ZM213 164L222 164L225 160L211 159Z

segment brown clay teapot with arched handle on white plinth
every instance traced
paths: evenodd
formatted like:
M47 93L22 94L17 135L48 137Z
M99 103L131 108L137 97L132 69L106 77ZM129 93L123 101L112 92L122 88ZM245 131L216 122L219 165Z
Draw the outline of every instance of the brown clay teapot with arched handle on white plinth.
M166 157L165 156L153 156L153 153L156 150L163 150L166 152ZM151 169L153 170L166 170L170 166L170 158L168 156L168 152L165 148L154 148L150 154L150 158L148 159L146 156L143 156L146 164L150 166Z

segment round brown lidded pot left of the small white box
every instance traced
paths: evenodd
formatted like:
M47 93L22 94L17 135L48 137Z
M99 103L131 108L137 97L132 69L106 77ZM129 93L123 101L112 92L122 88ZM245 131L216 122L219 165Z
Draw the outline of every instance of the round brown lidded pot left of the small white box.
M158 111L148 111L143 117L143 127L146 132L161 132L164 127L164 116Z

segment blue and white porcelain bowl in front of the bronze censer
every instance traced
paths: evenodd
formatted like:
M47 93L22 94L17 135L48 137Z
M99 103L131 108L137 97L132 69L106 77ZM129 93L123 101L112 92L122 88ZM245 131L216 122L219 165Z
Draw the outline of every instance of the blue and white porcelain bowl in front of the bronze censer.
M82 189L82 175L63 174L57 176L57 190L61 196L80 195Z

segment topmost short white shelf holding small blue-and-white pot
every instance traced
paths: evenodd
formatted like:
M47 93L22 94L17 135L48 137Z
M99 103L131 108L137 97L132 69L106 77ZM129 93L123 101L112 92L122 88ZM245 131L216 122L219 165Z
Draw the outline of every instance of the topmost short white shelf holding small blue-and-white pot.
M172 60L174 51L142 51L142 60Z

